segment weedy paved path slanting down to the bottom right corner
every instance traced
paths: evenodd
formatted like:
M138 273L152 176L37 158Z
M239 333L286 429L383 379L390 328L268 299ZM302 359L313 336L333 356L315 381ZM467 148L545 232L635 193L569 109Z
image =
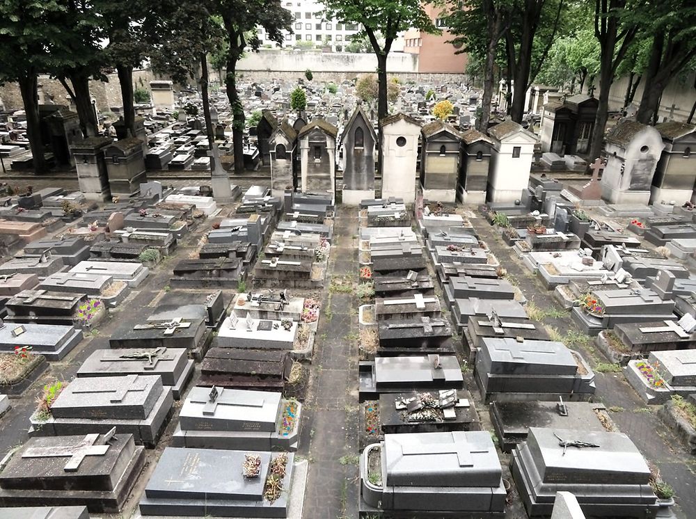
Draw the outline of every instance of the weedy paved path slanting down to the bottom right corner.
M530 303L536 305L542 322L555 328L562 341L571 349L580 351L595 370L596 392L599 401L609 410L619 431L627 434L640 452L660 470L663 479L674 487L680 518L693 518L696 511L696 458L690 456L681 442L657 416L660 406L645 404L621 372L601 372L609 366L608 360L594 347L594 337L587 337L571 320L570 314L560 308L535 274L526 269L507 246L496 227L484 218L472 220L480 239L484 240L500 264L507 269L507 278L518 286ZM599 371L598 371L599 369ZM480 411L485 411L481 409Z

